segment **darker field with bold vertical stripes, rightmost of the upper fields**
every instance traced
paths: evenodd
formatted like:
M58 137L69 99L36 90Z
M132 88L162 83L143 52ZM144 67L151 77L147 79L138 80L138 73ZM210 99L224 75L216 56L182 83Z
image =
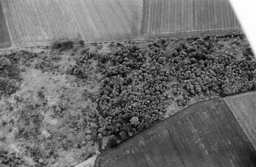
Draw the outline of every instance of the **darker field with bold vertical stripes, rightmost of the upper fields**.
M237 28L228 0L144 0L141 35Z

